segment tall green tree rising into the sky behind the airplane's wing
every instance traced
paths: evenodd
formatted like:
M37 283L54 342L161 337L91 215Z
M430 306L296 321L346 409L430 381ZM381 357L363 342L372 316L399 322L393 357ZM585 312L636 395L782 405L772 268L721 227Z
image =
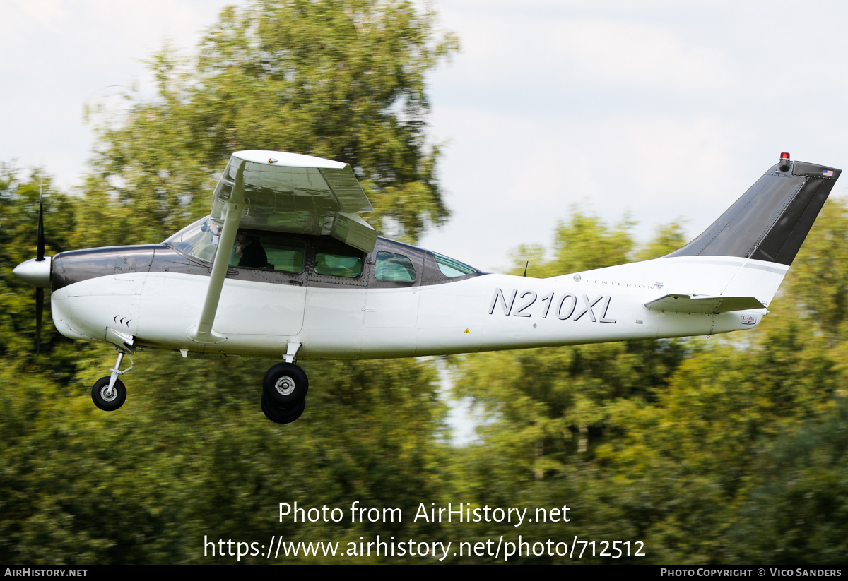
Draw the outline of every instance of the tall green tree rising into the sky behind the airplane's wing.
M195 61L168 47L153 56L156 99L129 96L129 113L102 120L88 191L117 197L121 241L160 241L209 212L232 152L306 153L349 163L377 229L415 241L448 216L425 77L457 43L436 37L433 19L402 0L226 8Z

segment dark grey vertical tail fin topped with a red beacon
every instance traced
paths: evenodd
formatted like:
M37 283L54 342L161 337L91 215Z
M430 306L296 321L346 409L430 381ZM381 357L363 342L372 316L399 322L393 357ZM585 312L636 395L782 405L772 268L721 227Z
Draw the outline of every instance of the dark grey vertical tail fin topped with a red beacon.
M789 266L841 173L790 161L784 153L703 234L667 257L741 257Z

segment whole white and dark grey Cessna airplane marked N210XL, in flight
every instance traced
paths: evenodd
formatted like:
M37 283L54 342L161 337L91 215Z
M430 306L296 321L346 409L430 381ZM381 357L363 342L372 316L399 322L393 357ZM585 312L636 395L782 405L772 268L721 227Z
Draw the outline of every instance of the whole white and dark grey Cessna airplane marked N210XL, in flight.
M485 274L377 236L346 163L294 153L232 154L212 212L161 244L44 256L14 274L43 289L53 324L111 343L95 405L121 407L119 376L143 348L282 357L265 373L261 407L300 417L309 382L299 358L416 357L750 329L840 176L779 162L703 234L665 257L548 279ZM236 243L237 242L237 243ZM37 338L36 338L37 345ZM129 368L121 370L124 357Z

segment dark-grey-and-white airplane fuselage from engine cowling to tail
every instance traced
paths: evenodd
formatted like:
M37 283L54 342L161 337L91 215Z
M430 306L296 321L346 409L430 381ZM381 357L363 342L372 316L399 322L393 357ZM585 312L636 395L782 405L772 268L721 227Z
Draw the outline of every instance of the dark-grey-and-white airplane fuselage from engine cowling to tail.
M483 274L382 238L361 253L358 271L333 270L325 238L293 236L301 260L293 266L231 266L214 323L223 339L215 343L192 339L212 257L167 241L53 257L53 322L75 339L114 342L117 331L137 347L189 353L279 358L295 342L298 358L413 357L746 329L766 311L673 313L644 305L693 288L705 295L750 290L767 304L786 272L739 257L672 257L535 279ZM265 246L268 260L282 261L272 255L275 246Z

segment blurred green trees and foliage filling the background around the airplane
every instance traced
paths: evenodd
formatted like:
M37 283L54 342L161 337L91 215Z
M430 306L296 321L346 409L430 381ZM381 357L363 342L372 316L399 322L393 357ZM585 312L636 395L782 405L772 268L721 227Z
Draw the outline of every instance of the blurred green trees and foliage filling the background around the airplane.
M0 168L0 562L234 562L204 557L204 539L267 544L282 535L344 548L378 534L472 544L577 535L630 541L631 551L644 542L646 556L617 562L845 561L841 199L828 202L772 313L748 333L452 357L455 396L485 416L463 447L449 444L429 360L304 362L314 389L287 426L259 410L265 363L140 353L126 405L104 413L88 394L114 351L65 340L47 321L36 361L34 292L11 268L34 254L41 185L48 255L164 239L208 213L216 172L247 148L351 163L382 231L407 241L443 222L424 80L457 44L434 30L432 13L391 0L230 8L196 61L169 49L153 56L158 97L129 96L116 118L101 113L81 195L59 192L42 170ZM519 250L515 272L528 255L528 275L550 276L683 244L679 225L668 224L639 246L632 225L573 213L550 253ZM345 517L280 522L278 503L294 501ZM404 523L351 522L354 501L400 508ZM527 507L533 523L410 523L421 503ZM564 505L570 522L536 520L536 508Z

